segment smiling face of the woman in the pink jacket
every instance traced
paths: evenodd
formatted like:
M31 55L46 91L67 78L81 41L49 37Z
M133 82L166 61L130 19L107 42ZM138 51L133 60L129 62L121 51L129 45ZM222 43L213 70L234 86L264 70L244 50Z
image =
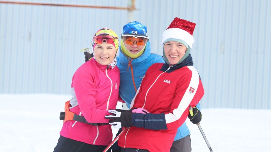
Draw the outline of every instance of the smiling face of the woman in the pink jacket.
M97 44L94 48L94 56L96 61L101 65L110 64L115 56L117 50L112 44L103 42L102 44Z

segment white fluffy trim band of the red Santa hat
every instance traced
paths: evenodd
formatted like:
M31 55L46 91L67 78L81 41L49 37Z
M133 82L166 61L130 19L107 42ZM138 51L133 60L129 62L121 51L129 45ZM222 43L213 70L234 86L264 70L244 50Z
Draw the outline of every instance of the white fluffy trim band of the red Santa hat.
M193 36L190 33L186 32L183 29L179 29L179 28L166 29L163 32L163 39L161 42L161 44L163 46L164 46L164 42L167 39L180 39L180 40L186 42L190 48L192 48L192 44L195 42Z

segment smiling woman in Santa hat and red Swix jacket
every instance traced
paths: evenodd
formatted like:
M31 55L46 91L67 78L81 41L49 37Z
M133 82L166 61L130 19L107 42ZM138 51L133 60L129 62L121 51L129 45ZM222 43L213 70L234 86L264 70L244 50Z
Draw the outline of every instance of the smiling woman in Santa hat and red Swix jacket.
M169 152L177 129L185 122L189 106L195 107L204 95L203 85L189 54L195 23L175 18L163 33L165 64L148 68L131 103L131 109L144 108L149 113L108 110L110 124L129 127L120 136L122 152Z

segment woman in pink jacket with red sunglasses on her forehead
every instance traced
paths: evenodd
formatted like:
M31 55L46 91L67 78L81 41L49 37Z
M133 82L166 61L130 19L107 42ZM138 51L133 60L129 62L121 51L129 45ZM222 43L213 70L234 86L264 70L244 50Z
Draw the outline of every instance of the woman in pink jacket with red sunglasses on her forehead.
M83 116L88 123L66 121L54 152L99 152L112 141L108 124L108 109L115 109L118 100L120 71L116 54L117 34L108 28L98 30L93 37L93 57L80 66L72 79L72 99L69 110Z

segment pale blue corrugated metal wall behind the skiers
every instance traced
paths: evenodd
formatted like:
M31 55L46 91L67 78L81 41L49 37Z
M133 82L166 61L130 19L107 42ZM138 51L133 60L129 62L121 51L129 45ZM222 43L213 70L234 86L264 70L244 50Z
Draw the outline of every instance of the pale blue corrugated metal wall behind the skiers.
M197 23L191 54L205 88L203 107L271 109L270 7L268 0L136 0L133 20L148 27L152 52L160 55L161 35L174 17ZM79 50L102 27L120 35L127 17L125 10L0 3L0 93L69 94L84 62Z

